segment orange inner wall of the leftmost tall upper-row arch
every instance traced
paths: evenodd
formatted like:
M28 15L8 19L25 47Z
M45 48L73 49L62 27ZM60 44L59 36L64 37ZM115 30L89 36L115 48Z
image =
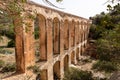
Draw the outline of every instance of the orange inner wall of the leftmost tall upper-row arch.
M42 14L38 14L37 17L39 21L40 60L47 61L46 19Z

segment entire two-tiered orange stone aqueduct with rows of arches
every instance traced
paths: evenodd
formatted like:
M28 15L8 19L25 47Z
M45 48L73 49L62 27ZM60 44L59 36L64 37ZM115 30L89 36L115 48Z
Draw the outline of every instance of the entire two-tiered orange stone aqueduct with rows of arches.
M17 72L27 72L28 66L36 64L41 69L41 80L54 80L54 74L62 79L68 66L77 64L84 52L91 21L33 2L25 6L24 15L29 11L39 21L40 61L35 63L34 20L24 19L29 24L26 31L26 25L17 25L18 19L15 22Z

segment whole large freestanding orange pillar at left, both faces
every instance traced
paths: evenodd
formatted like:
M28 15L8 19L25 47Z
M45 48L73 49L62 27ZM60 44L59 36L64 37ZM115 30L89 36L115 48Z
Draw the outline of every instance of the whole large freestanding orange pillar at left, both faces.
M14 22L17 72L25 72L28 66L34 65L34 20L29 16L33 15L23 13L24 20L18 16Z

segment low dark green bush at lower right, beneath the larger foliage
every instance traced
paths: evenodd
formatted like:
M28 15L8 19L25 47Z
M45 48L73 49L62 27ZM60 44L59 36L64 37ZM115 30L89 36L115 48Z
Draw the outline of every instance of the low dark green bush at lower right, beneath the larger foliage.
M113 72L117 70L117 67L112 62L98 61L93 64L92 69L96 69L97 71Z

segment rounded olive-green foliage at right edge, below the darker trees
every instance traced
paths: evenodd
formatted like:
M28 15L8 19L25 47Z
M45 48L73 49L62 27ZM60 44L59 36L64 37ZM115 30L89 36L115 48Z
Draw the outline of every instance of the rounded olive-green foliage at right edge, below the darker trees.
M102 39L97 41L97 55L100 60L115 61L120 59L120 33L107 31ZM116 62L116 61L115 61Z

